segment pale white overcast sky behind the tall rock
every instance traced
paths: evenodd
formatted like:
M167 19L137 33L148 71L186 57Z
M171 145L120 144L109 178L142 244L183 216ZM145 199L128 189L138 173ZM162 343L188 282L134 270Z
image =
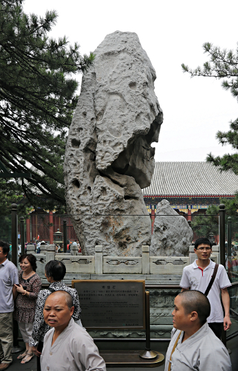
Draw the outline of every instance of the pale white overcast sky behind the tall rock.
M238 117L237 100L221 80L191 78L181 64L195 68L206 62L206 42L237 48L237 0L25 0L23 9L39 16L56 10L50 36L67 36L70 44L80 44L81 54L94 52L116 30L138 34L155 68L155 94L164 111L155 161L205 161L210 152L234 152L215 135Z

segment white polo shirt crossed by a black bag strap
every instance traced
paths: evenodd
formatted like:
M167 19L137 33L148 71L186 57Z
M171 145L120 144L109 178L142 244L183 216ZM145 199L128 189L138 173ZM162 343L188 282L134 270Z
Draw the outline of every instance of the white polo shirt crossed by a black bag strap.
M195 260L193 264L184 267L180 286L183 289L188 289L190 287L191 290L198 290L202 293L205 293L208 283L213 276L214 268L215 262L210 260L209 265L202 272L202 270L197 266L197 262ZM217 276L208 293L208 300L210 302L210 316L207 319L208 323L223 322L224 315L221 306L220 292L221 289L225 289L228 286L231 286L231 284L227 276L226 269L223 267L223 265L219 264Z

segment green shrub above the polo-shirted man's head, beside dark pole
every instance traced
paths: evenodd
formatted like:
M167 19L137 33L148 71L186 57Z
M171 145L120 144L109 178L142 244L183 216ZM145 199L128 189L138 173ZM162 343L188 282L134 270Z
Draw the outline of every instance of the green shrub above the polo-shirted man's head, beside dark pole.
M210 235L213 236L219 234L219 225L218 225L218 215L219 206L210 205L206 210L206 216L195 216L191 223L191 228L197 236L210 238Z

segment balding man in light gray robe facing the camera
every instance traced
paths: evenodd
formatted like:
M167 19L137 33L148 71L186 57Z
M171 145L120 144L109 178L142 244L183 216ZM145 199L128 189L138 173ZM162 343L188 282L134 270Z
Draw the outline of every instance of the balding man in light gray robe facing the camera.
M72 319L72 297L55 291L45 301L45 322L52 327L44 338L41 355L43 371L106 371L105 361L87 331Z

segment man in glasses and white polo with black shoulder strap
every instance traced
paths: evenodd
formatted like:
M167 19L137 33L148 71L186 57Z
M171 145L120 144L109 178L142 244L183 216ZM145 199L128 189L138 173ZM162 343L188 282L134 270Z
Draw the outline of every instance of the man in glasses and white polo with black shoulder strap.
M205 293L215 269L215 262L210 260L210 254L212 254L210 240L208 238L198 238L195 241L194 251L197 254L197 260L193 264L184 267L180 286L182 287L182 291L189 290L190 288L191 290L198 290ZM215 280L208 293L210 316L207 319L208 325L219 339L221 338L222 327L224 326L224 330L226 331L231 325L228 286L231 286L231 284L226 269L223 265L219 264ZM225 317L221 306L220 293L222 304L224 305Z

